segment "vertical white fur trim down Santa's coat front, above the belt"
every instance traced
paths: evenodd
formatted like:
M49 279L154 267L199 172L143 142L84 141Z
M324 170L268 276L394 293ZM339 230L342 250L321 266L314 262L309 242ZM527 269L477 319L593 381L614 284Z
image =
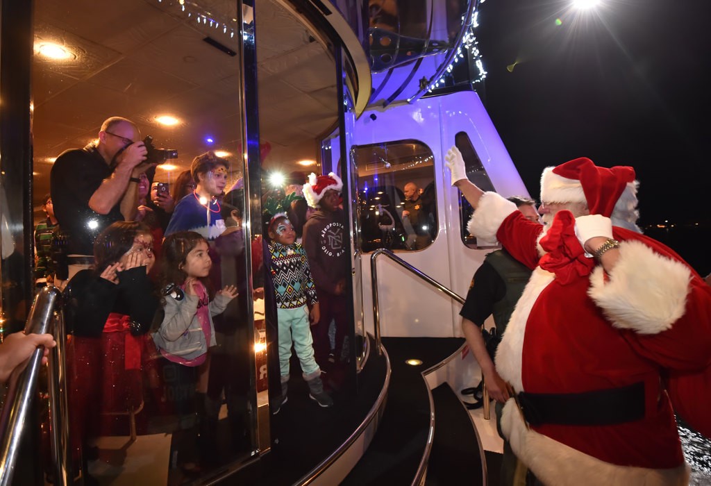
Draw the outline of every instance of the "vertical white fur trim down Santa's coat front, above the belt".
M523 294L518 299L511 318L506 325L506 333L496 348L496 371L503 379L513 386L518 392L523 392L521 381L521 368L523 357L523 336L525 335L526 322L533 304L544 288L550 284L555 275L538 267L531 274L531 278L523 289Z

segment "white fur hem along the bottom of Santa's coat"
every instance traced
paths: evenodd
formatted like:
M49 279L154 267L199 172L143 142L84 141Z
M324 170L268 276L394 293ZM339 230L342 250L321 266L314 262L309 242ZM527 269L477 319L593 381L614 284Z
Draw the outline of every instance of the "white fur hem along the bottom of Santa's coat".
M688 465L646 469L610 464L529 430L513 399L503 407L501 430L515 455L545 485L681 486L689 482Z

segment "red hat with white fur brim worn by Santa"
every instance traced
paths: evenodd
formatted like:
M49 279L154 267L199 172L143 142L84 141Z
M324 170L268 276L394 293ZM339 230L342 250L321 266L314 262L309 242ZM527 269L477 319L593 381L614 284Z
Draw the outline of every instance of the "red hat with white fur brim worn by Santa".
M547 167L540 178L542 202L583 202L591 215L610 217L627 192L636 193L634 168L598 167L585 157Z

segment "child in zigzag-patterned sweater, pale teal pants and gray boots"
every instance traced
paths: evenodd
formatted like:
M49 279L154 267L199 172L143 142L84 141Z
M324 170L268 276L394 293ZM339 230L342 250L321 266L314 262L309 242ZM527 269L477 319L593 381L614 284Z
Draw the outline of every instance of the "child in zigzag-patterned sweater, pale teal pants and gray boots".
M314 342L309 329L309 318L312 323L319 322L319 301L316 298L316 288L314 280L311 279L306 252L295 242L296 232L283 212L277 213L269 220L268 234L272 240L269 243L269 254L272 257L271 272L277 301L279 367L282 375L282 396L274 414L287 403L292 342L296 356L301 362L304 379L309 384L309 398L320 406L332 406L333 399L324 392L321 369L314 360ZM307 304L311 305L311 312Z

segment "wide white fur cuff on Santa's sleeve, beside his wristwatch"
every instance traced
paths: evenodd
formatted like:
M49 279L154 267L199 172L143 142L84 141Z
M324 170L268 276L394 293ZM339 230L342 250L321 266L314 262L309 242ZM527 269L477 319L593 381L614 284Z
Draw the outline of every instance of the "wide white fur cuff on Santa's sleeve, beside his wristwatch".
M621 242L619 252L609 281L600 266L590 276L590 298L616 328L641 334L671 328L684 315L691 271L642 242Z

